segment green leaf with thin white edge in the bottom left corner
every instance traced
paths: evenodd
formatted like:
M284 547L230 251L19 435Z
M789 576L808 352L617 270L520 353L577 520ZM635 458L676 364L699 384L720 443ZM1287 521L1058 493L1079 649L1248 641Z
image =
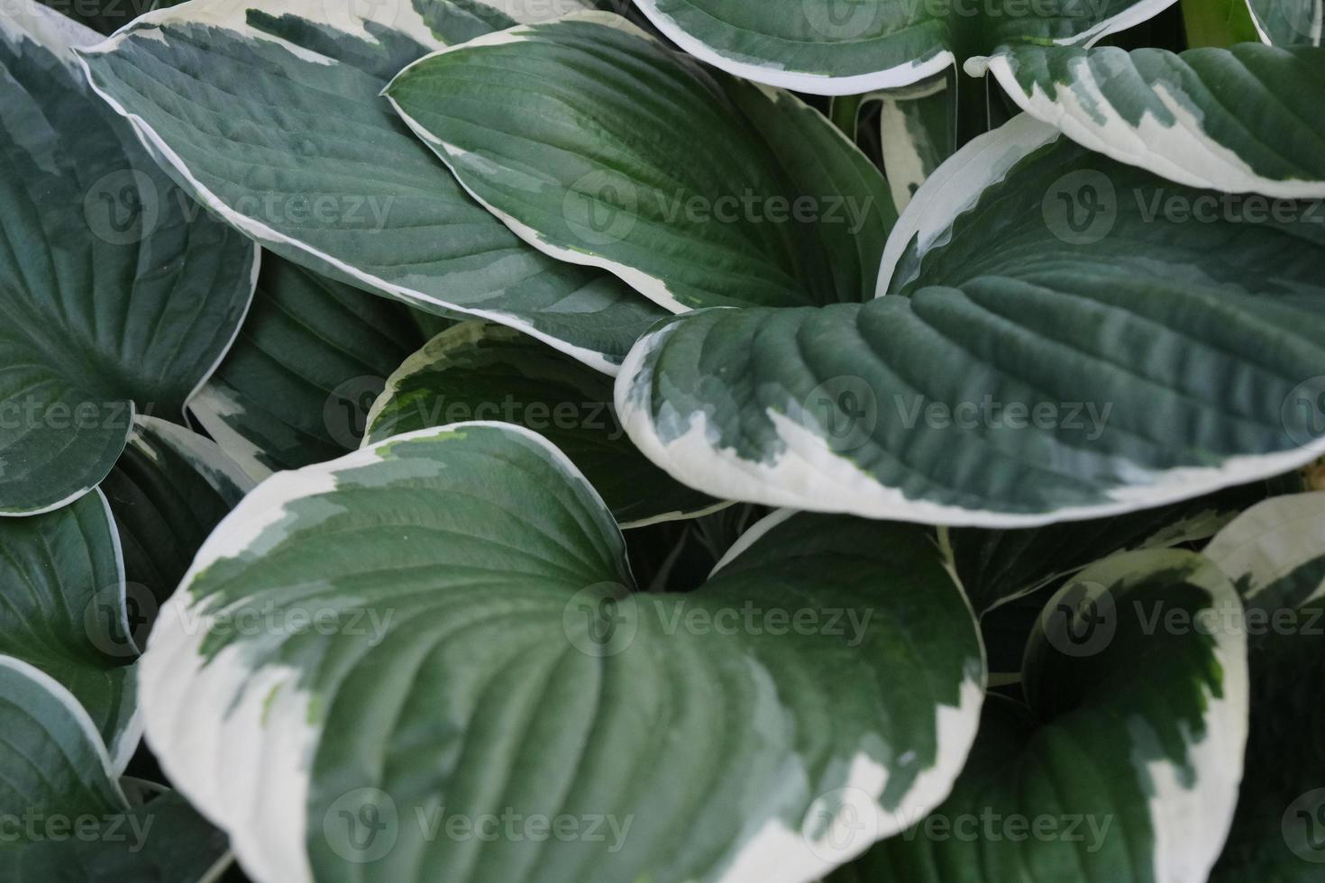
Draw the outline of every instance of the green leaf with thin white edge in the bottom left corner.
M0 732L5 879L195 883L224 863L225 835L178 794L131 808L78 700L3 655Z

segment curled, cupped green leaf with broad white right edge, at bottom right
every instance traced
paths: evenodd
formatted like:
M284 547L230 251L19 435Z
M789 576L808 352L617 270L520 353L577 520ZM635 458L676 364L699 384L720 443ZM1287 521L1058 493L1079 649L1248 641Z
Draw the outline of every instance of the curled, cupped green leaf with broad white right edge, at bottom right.
M1028 704L991 696L951 797L840 879L1204 883L1247 737L1232 585L1194 552L1130 552L1084 571L1040 622Z

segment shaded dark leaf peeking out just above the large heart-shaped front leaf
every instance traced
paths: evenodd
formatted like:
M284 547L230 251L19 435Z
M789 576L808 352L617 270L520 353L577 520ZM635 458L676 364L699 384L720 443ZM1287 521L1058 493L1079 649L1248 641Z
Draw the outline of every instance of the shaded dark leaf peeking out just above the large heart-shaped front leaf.
M584 473L623 527L723 503L672 481L612 413L612 380L511 328L466 322L411 355L372 405L363 443L469 420L533 429Z

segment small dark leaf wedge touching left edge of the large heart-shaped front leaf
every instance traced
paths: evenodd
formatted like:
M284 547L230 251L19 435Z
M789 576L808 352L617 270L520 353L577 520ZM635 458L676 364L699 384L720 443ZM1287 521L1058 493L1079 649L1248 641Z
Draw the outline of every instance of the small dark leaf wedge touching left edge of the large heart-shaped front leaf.
M138 417L123 455L101 483L119 531L131 617L155 614L203 540L253 485L212 440Z

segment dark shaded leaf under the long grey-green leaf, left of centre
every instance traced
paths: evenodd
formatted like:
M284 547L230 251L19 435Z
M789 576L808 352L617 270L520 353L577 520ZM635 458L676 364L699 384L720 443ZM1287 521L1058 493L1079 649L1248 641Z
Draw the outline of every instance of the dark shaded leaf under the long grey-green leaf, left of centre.
M257 481L335 459L428 340L424 315L268 254L253 310L189 413Z

